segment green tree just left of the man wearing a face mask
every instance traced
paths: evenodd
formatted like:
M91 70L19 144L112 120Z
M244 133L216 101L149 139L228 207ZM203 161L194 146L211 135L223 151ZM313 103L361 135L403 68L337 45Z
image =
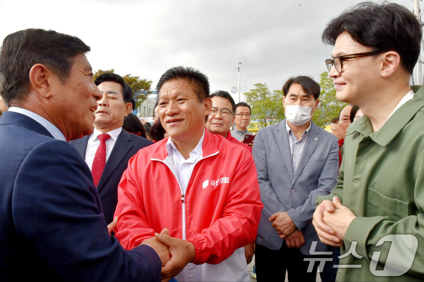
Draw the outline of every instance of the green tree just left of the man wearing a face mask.
M257 83L255 87L244 94L246 103L252 108L252 120L257 120L262 127L282 121L284 119L283 91L273 90L271 93L265 83Z

